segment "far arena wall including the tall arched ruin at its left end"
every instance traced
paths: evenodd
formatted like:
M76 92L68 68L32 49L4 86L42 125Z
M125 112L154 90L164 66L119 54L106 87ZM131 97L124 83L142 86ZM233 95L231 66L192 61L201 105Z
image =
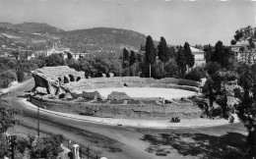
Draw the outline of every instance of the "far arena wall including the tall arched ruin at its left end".
M199 91L200 83L188 79L152 79L139 77L114 77L114 78L96 78L85 79L84 72L77 72L68 66L44 67L32 72L35 80L34 90L37 87L46 88L48 94L55 98L63 98L66 93L69 97L72 94L82 94L88 89L106 88L106 87L134 87L134 86L152 86L179 88L191 91ZM36 91L33 92L36 94Z

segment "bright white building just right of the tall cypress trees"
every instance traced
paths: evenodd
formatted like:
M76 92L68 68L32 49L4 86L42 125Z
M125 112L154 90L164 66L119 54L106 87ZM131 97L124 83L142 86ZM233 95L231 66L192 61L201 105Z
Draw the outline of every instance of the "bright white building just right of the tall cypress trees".
M206 65L205 52L193 46L190 46L190 50L192 54L195 55L195 65L193 68L205 66Z

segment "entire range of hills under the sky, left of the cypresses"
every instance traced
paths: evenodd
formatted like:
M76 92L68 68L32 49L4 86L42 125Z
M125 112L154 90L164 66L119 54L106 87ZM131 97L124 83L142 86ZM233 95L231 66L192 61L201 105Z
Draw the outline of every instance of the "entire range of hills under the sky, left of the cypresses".
M69 47L75 52L121 52L124 47L139 50L146 43L146 35L128 29L95 27L64 31L47 24L0 23L0 46L16 49L41 50L51 48L54 43L59 47ZM13 38L19 37L19 38ZM158 42L155 41L157 45Z

